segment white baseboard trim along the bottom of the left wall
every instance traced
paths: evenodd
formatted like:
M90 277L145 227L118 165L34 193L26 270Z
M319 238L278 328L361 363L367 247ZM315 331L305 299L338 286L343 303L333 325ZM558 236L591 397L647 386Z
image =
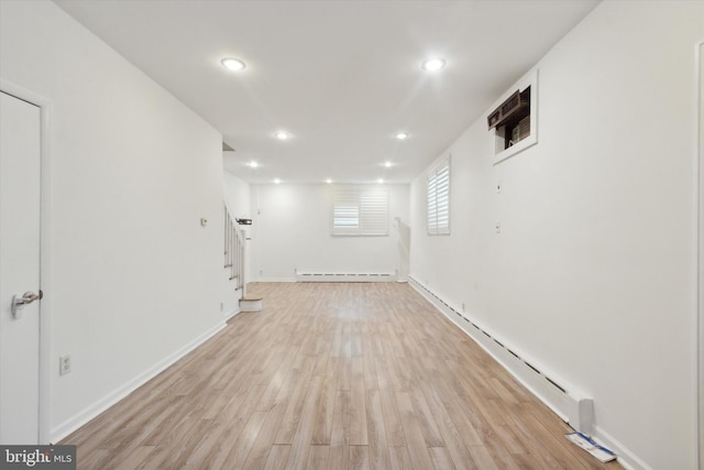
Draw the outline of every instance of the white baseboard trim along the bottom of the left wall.
M188 354L190 351L193 351L194 349L196 349L197 347L199 347L200 345L202 345L204 342L212 338L224 327L226 327L224 321L218 323L211 329L200 335L198 338L194 339L193 341L190 341L188 345L184 346L179 350L169 354L164 360L157 362L156 364L154 364L153 367L151 367L140 375L135 376L134 379L132 379L131 381L129 381L128 383L125 383L114 392L110 393L109 395L105 396L103 398L99 400L92 405L88 406L82 412L77 413L72 418L66 419L64 423L59 424L58 426L56 426L51 430L50 441L58 442L59 440L62 440L63 438L65 438L66 436L68 436L69 434L72 434L73 431L75 431L76 429L78 429L79 427L81 427L92 418L95 418L96 416L98 416L100 413L105 412L110 406L114 405L120 400L124 398L130 393L134 392L136 389L139 389L140 386L144 385L146 382L148 382L150 380L158 375L161 372L166 370L173 363L182 359L184 356Z

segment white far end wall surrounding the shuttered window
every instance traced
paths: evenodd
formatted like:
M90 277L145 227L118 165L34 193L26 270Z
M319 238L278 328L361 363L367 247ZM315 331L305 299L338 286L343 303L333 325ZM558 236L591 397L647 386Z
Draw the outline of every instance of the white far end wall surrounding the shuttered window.
M332 192L340 187L252 185L254 278L293 281L296 269L317 273L394 273L399 269L395 218L408 223L408 185L385 185L389 189L388 237L330 234Z

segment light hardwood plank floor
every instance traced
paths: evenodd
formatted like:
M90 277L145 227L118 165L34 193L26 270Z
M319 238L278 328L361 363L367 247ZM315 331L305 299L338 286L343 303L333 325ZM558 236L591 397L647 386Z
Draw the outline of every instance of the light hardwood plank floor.
M407 284L264 297L61 444L79 469L617 469Z

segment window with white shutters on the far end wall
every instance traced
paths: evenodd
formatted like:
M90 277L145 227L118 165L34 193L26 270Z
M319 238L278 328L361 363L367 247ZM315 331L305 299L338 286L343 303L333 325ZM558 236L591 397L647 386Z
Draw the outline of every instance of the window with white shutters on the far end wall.
M332 234L388 236L388 192L336 192L332 197Z

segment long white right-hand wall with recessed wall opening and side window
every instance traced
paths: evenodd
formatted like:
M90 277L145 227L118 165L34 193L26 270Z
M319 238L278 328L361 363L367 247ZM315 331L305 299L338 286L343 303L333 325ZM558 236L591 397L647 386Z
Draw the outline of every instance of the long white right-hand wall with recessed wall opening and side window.
M591 396L636 467L696 468L703 39L702 2L602 3L538 64L536 146L492 165L484 117L450 146L450 237L411 185L411 276Z

